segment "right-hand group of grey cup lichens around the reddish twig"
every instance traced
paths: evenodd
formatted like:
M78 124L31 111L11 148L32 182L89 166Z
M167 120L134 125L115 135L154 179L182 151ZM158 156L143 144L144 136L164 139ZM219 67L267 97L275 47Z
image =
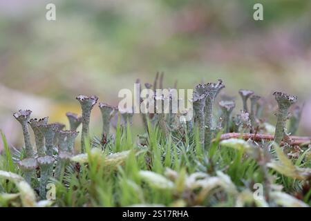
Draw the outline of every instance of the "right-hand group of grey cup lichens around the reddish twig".
M221 121L218 128L213 128L213 109L214 102L220 90L225 88L223 81L218 80L218 83L198 84L194 88L194 123L198 125L199 140L201 146L205 149L209 148L211 140L217 129L222 128L223 132L239 132L239 133L254 133L257 132L259 119L263 110L263 100L260 96L254 95L252 90L239 90L243 102L243 110L236 117L232 117L232 111L236 104L232 97L224 96L218 104L220 106ZM275 92L276 102L279 110L276 113L277 122L274 135L274 142L281 144L283 138L288 135L286 130L286 120L290 106L297 100L296 96L287 95L281 92ZM250 99L250 110L247 101ZM296 106L294 115L291 118L290 133L294 134L299 124L301 117L301 108Z

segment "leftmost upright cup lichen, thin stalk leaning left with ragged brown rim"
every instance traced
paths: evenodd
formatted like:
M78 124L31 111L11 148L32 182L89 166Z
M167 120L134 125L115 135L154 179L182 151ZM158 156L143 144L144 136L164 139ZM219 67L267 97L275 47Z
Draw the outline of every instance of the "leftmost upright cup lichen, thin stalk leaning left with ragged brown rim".
M30 133L28 128L28 120L30 119L30 114L32 111L25 110L21 111L19 110L17 113L14 113L13 116L17 121L21 124L21 128L23 130L23 140L25 142L25 149L26 149L26 157L33 157L33 149L30 142Z

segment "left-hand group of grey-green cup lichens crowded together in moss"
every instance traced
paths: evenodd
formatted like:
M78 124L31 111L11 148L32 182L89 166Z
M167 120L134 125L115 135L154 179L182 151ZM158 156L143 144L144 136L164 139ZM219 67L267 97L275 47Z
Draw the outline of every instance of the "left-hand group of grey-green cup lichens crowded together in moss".
M70 130L64 130L65 125L60 123L48 124L48 117L42 119L30 119L32 111L18 111L13 116L21 124L25 143L23 159L18 163L25 180L32 184L32 177L37 177L39 169L39 195L42 199L46 197L46 185L50 177L62 180L66 166L75 153L75 138L78 135L77 128L82 124L81 152L85 151L86 137L89 136L89 122L91 110L97 103L96 96L79 95L77 100L82 107L82 117L75 113L66 113ZM117 108L108 104L100 103L103 119L103 137L109 136L111 117ZM32 148L29 127L35 135L35 146Z

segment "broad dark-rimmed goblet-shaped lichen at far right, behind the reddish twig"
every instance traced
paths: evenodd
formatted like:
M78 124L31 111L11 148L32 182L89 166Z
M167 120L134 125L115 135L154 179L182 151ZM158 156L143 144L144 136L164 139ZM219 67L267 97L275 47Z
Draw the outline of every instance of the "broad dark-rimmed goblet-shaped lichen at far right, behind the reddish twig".
M276 128L274 134L274 142L276 144L281 144L286 133L286 120L288 119L288 111L292 104L296 103L297 97L293 95L288 95L281 92L273 93L276 102L278 102L279 110L276 113Z

